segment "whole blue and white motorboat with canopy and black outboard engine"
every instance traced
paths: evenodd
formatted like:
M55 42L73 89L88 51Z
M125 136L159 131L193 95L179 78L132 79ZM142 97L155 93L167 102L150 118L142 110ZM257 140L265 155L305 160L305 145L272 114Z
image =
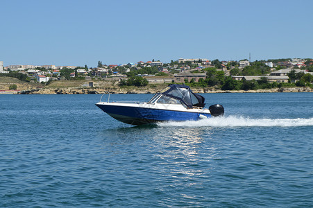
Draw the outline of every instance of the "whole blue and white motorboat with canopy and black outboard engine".
M108 101L103 102L103 95L96 106L114 119L131 125L162 121L197 121L224 114L224 108L219 104L211 105L209 109L204 108L205 98L192 92L186 85L169 85L148 102L110 102L110 94Z

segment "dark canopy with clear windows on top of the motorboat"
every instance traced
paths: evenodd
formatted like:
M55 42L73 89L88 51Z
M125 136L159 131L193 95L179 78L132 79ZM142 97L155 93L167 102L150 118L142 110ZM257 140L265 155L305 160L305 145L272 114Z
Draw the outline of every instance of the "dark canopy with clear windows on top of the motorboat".
M163 92L161 92L165 96L169 96L171 98L175 98L182 103L184 103L188 108L196 107L204 107L205 98L199 94L195 94L192 92L189 86L185 85L169 85L169 87L165 88Z

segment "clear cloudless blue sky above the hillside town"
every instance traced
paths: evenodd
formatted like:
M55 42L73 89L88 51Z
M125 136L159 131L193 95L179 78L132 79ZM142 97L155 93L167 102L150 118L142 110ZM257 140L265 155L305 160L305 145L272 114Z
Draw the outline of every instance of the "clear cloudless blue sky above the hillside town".
M0 60L313 58L313 1L0 0Z

